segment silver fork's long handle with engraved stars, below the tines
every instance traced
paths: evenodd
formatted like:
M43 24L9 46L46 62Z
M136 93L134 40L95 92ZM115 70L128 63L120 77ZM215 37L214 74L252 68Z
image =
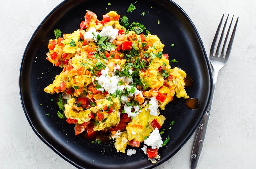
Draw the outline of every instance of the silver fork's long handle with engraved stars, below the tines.
M215 71L213 70L213 87L212 87L212 95L210 98L210 102L209 105L206 109L206 112L203 116L203 120L199 125L199 128L197 130L197 134L196 134L196 139L194 142L194 146L193 146L193 150L192 150L192 154L191 154L191 159L190 159L190 168L191 169L195 169L197 166L197 163L199 161L202 149L203 149L203 144L204 144L204 140L205 140L205 135L206 135L206 130L207 130L207 126L208 126L208 122L210 119L210 114L211 114L211 108L212 108L212 100L213 100L213 96L214 96L214 91L215 91L215 85L217 82L217 76L218 76L218 72L219 71Z

